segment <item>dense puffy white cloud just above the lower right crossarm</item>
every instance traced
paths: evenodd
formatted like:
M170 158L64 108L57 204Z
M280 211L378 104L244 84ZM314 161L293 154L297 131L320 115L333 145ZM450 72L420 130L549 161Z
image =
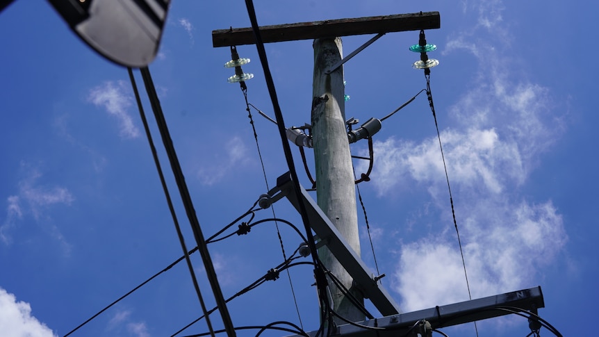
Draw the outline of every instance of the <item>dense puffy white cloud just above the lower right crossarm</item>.
M473 298L533 286L539 267L566 243L551 202L477 204L460 235ZM395 287L402 309L413 311L468 300L456 233L403 245Z

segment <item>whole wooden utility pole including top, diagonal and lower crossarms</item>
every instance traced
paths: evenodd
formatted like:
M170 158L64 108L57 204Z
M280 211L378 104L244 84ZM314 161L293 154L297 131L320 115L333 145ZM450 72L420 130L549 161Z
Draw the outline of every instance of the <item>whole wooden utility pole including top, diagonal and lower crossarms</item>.
M343 318L360 324L360 326L340 325L340 320L336 320L337 327L334 334L337 336L391 337L408 336L408 334L410 336L432 336L434 328L484 320L520 311L532 313L528 319L533 333L536 331L538 334L541 327L539 318L536 316L536 309L545 306L540 287L482 299L471 299L447 306L436 306L411 313L401 313L393 298L378 283L378 277L373 277L359 257L354 173L349 149L350 138L345 125L345 90L341 65L385 33L420 31L440 28L440 26L441 17L438 12L420 12L258 28L262 43L314 39L312 139L309 140L306 135L303 135L306 138L297 142L297 133L295 133L295 139L290 138L290 140L298 146L310 146L311 143L314 148L318 204L311 199L302 186L298 186L297 181L291 181L289 172L279 176L277 186L268 191L265 200L272 204L272 202L286 197L298 211L305 212L311 229L320 239L318 254L325 267L340 279L345 288L350 289L350 293L357 297L359 302L363 302L363 297L369 298L379 312L385 315L385 317L377 319L373 319L374 317L369 315L368 320L363 320L365 315L350 303L350 297L340 293L329 282L329 289L331 289L333 297L332 309ZM361 34L377 35L342 59L341 39L338 37ZM256 43L253 28L229 28L213 31L212 41L213 47ZM366 129L366 137L370 135L367 124L369 122L360 128ZM380 129L380 122L378 126L369 125L373 130L377 127ZM292 129L288 129L288 131L292 131ZM352 131L352 135L356 136L357 131L359 130ZM352 142L361 138L352 137ZM364 327L376 329L365 329ZM322 329L308 333L312 337L320 334L322 334Z

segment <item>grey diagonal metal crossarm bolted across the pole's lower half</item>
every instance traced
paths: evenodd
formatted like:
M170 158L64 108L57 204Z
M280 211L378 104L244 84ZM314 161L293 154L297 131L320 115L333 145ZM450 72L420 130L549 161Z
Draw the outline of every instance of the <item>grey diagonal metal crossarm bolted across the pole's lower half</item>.
M382 315L397 315L401 313L400 306L395 303L391 295L372 277L372 272L366 267L361 258L350 247L345 238L341 236L327 215L318 207L318 204L310 197L308 192L300 186L302 200L298 201L293 190L293 183L289 172L279 176L277 186L268 191L268 195L275 202L286 197L289 202L299 211L300 202L306 207L310 227L320 238L320 243L325 243L331 253L343 265L343 268L351 275L359 285L365 298L370 299Z

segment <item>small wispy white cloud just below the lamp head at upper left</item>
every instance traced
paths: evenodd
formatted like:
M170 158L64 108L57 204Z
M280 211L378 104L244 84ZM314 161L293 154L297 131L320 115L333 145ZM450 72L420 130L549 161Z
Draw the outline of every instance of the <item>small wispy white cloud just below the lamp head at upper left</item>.
M117 117L120 135L123 138L137 138L140 135L139 129L127 112L133 99L124 81L117 81L116 84L108 81L98 85L90 90L88 100L95 106L104 107L110 115Z

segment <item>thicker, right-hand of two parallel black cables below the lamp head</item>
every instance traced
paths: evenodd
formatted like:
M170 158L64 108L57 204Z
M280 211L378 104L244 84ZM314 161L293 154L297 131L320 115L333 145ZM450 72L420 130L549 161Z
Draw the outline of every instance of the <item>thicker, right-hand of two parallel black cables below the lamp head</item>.
M185 182L185 176L183 176L183 171L181 170L181 165L179 164L179 159L177 158L177 152L175 151L174 145L172 144L172 139L170 138L170 132L168 131L168 127L166 124L164 114L162 112L160 101L158 100L158 95L156 94L156 88L154 88L154 83L151 79L151 74L149 72L148 67L142 67L140 69L140 72L142 74L142 78L144 79L146 91L152 110L154 110L156 124L158 125L158 130L161 133L163 145L165 147L165 151L169 158L171 169L174 174L174 179L177 182L177 188L179 188L181 201L183 202L183 206L186 210L187 217L190 222L190 227L193 231L193 235L197 243L197 247L199 249L199 253L202 256L202 261L204 262L206 277L208 277L208 281L210 282L216 304L218 306L218 309L220 310L220 315L224 324L224 328L227 330L227 334L229 335L229 337L234 337L236 336L236 334L235 330L233 329L233 322L231 321L231 316L229 315L227 304L224 302L222 290L220 290L220 284L218 283L218 278L214 270L212 259L210 258L210 254L208 253L208 247L206 247L206 241L204 240L204 235L202 234L202 228L199 227L199 222L197 220L195 208L193 207L189 190ZM199 287L197 287L196 290L198 291Z

